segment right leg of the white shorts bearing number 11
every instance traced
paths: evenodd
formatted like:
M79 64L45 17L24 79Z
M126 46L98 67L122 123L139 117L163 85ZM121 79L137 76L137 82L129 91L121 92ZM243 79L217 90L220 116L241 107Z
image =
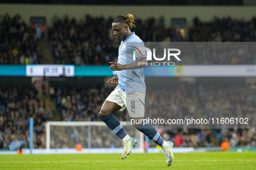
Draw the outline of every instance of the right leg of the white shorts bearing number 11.
M131 118L144 117L145 95L141 92L134 92L126 95L126 111Z

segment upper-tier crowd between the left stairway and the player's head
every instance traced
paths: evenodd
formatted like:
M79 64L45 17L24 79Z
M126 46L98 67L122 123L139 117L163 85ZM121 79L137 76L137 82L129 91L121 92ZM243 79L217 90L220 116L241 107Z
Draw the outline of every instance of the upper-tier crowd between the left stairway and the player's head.
M56 64L104 65L113 60L117 43L109 38L111 19L92 18L85 22L75 18L53 18L53 27L48 29L49 44Z

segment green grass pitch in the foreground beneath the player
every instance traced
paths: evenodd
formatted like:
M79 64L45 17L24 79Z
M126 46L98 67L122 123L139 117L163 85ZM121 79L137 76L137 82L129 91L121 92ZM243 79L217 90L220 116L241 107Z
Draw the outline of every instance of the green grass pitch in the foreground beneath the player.
M177 153L170 167L159 154L32 154L0 155L0 169L256 169L256 152Z

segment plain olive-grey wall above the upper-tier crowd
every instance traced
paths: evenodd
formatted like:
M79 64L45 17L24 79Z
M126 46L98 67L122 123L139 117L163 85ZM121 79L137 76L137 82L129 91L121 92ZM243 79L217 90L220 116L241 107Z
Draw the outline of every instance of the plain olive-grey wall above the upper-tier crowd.
M201 21L208 21L214 16L237 19L252 19L256 16L256 6L94 6L94 5L32 5L32 4L0 4L0 14L9 13L14 16L19 13L26 23L31 16L45 16L48 25L52 24L55 14L58 17L75 17L77 21L91 16L115 17L123 13L131 13L138 18L165 16L165 25L169 26L172 18L186 18L188 26L193 18L198 16Z

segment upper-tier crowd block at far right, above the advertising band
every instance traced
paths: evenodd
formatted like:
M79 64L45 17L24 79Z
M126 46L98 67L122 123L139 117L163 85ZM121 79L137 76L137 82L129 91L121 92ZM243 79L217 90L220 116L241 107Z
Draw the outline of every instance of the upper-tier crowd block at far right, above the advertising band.
M209 22L195 17L188 35L190 42L229 42L193 44L200 48L194 50L195 64L256 64L254 43L248 43L256 42L256 17L249 21L214 17Z

